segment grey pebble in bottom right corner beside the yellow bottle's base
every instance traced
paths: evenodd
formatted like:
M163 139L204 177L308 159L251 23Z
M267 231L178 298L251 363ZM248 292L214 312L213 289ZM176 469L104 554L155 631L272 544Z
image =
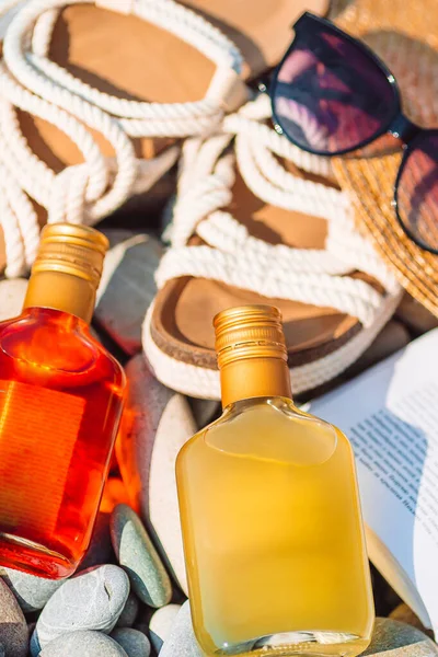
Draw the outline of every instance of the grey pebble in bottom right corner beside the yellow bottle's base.
M371 643L362 657L387 652L391 652L391 657L436 657L438 646L412 625L377 618Z

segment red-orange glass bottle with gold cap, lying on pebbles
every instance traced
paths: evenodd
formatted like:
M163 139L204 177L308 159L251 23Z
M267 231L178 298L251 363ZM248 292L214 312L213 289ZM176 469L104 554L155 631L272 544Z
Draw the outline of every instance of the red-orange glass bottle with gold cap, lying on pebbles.
M122 413L122 367L90 333L106 238L44 229L24 309L0 323L0 566L71 575Z

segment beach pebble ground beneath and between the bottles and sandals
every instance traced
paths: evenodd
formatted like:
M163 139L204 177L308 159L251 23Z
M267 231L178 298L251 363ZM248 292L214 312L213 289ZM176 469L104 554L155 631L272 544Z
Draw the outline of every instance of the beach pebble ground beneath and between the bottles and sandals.
M141 355L141 322L154 295L157 239L108 231L112 242L95 328L123 360L134 420L120 447L90 550L78 573L50 581L0 567L0 657L203 657L194 638L178 523L174 463L193 433L218 412L159 383ZM145 262L149 263L145 267ZM21 311L25 280L0 281L0 320ZM435 325L406 299L358 369ZM130 508L132 506L136 510ZM136 512L137 511L137 512ZM377 614L366 655L438 655L418 619L372 570ZM354 603L354 601L351 601Z

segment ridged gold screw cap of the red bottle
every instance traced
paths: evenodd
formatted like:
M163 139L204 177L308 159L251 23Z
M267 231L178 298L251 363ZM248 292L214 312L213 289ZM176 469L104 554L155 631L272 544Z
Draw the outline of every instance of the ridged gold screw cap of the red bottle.
M48 224L42 231L32 274L62 272L97 287L108 246L106 237L94 228L74 223Z

